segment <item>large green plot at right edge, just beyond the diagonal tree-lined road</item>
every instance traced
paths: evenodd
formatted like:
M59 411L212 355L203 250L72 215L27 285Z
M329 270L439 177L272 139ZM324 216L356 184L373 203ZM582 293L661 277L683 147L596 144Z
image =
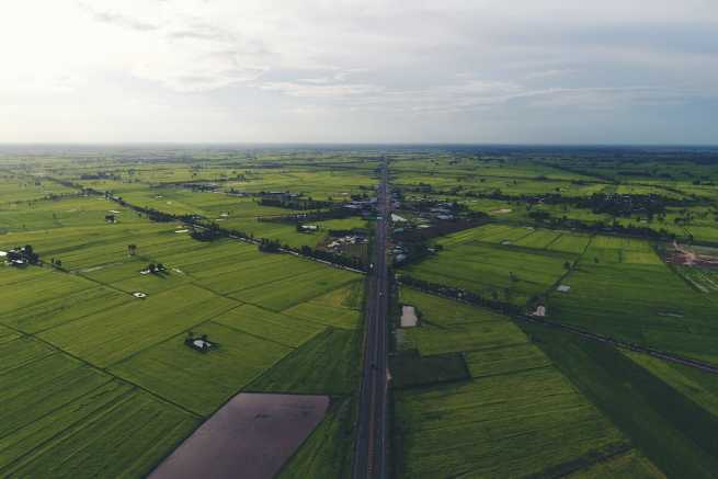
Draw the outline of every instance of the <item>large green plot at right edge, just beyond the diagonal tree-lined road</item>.
M716 361L715 303L660 262L646 242L596 237L554 293L549 316L592 331Z

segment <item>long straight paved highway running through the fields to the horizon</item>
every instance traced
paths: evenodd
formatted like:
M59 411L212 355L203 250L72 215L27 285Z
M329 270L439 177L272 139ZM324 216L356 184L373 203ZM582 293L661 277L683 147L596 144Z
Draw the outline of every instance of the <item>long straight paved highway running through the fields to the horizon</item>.
M366 334L364 337L364 366L360 392L356 452L353 477L385 478L387 445L387 215L388 192L386 160L381 168L378 189L376 235L373 250L374 269L367 278Z

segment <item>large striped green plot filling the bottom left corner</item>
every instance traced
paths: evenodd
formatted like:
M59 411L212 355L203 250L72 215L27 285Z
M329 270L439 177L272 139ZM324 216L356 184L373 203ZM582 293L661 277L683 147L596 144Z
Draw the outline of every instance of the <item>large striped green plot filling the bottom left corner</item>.
M0 344L0 358L3 477L143 475L195 425L193 417L35 340Z

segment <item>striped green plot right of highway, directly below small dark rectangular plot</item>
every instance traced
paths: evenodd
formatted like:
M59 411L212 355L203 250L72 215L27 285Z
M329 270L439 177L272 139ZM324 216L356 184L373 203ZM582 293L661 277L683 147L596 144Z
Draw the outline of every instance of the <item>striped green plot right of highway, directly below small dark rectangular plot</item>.
M397 395L403 477L524 477L623 435L556 369Z

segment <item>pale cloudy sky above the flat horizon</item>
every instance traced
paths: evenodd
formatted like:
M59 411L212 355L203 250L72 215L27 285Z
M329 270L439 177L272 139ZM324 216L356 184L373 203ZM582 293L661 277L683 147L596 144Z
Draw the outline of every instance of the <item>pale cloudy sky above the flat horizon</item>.
M23 0L0 142L718 144L716 0Z

